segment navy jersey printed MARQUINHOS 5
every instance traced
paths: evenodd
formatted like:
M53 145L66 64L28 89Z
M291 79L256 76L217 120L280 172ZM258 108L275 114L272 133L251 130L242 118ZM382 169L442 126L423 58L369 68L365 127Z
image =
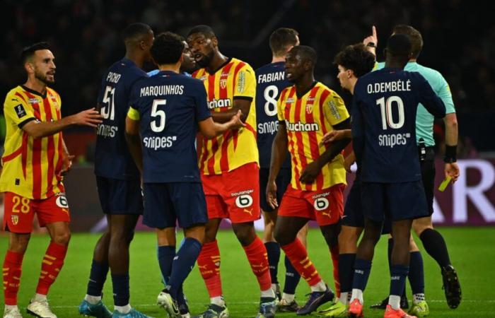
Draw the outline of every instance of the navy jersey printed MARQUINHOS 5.
M197 123L211 117L203 82L160 71L134 85L129 106L140 120L144 182L200 182Z

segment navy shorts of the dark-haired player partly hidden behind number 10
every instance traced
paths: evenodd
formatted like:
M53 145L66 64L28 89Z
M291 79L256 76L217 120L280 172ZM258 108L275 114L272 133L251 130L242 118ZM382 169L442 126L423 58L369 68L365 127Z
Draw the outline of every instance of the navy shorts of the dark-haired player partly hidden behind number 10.
M356 175L344 207L344 218L342 225L350 226L351 228L364 228L363 206L361 204L361 179ZM383 222L382 234L392 232L392 223L388 218Z

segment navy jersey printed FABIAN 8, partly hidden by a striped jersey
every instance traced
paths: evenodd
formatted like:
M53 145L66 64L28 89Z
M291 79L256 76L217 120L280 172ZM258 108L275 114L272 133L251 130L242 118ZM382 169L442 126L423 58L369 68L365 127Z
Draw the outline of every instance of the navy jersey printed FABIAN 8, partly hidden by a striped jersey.
M270 167L272 143L278 129L276 102L284 88L291 86L285 78L284 62L270 63L260 67L256 73L256 122L257 145L260 153L260 167ZM291 156L287 155L282 167L291 167Z

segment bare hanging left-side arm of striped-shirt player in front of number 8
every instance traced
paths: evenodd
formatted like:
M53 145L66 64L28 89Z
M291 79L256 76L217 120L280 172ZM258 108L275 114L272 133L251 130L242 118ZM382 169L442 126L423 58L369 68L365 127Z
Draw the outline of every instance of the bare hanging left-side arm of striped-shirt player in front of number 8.
M279 130L276 131L275 139L272 143L272 156L270 159L270 172L267 182L267 203L272 208L277 208L276 201L276 176L279 175L280 167L285 161L289 141L287 140L287 130L285 122L279 122Z

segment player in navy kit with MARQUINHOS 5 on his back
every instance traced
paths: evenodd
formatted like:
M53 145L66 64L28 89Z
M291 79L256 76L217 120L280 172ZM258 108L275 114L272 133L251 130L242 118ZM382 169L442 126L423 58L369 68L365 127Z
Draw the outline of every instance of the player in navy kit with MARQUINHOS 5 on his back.
M208 220L194 147L198 128L213 138L243 126L240 111L223 124L211 119L202 81L179 73L183 49L179 35L156 37L151 55L160 72L134 85L126 119L127 143L144 183L143 223L156 228L159 248L170 254L168 262L159 262L168 284L158 298L170 317L181 317L177 297L201 251ZM185 240L175 254L177 220Z

